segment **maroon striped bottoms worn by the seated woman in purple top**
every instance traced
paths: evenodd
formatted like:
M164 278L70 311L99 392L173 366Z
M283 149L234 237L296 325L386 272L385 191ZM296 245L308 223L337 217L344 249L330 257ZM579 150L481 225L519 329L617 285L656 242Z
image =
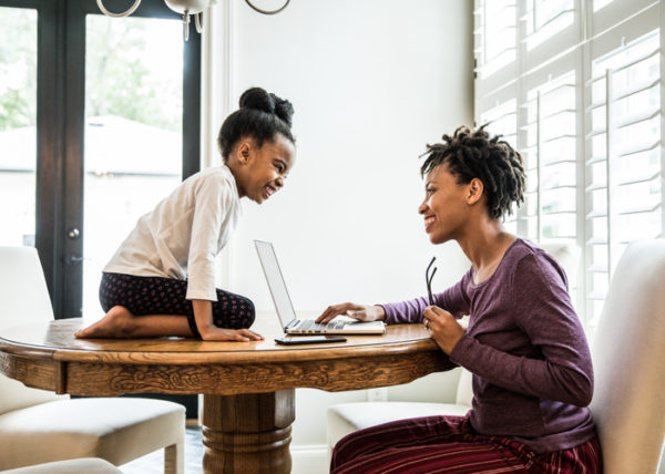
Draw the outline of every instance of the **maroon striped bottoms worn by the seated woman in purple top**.
M330 472L602 473L597 436L569 450L538 454L510 437L478 434L466 416L426 416L371 426L342 437Z

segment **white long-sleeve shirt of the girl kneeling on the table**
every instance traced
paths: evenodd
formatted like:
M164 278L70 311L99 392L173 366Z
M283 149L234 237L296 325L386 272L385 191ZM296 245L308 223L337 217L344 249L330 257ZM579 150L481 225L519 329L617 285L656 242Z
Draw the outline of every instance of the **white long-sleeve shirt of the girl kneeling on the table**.
M187 279L187 299L216 301L215 257L241 214L231 169L203 169L139 219L103 271Z

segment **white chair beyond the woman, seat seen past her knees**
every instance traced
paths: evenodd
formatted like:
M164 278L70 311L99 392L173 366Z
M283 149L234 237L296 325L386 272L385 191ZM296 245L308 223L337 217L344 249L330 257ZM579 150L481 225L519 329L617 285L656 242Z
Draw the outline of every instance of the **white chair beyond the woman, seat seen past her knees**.
M563 267L569 277L569 286L574 286L580 261L580 253L576 245L567 240L551 240L541 243L540 246L552 255ZM418 416L433 415L464 415L471 409L473 400L473 390L471 388L472 375L466 369L456 369L460 371L457 382L457 392L454 401L437 400L437 402L422 402L406 400L390 400L378 402L356 402L339 403L331 405L327 411L327 442L328 454L332 452L335 444L344 436L354 431L374 426L390 421L403 420ZM437 398L441 392L441 387L451 383L451 374L433 373L427 377L427 380L420 379L411 382L409 391L412 396L422 398L417 391L426 391Z

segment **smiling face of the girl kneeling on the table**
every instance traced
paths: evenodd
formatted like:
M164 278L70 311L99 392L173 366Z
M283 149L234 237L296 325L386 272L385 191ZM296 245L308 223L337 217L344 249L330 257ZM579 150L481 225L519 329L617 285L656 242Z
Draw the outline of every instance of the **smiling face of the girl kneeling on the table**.
M238 195L262 204L284 186L284 179L296 162L294 144L282 134L256 147L253 138L244 138L236 150L239 166L232 167Z

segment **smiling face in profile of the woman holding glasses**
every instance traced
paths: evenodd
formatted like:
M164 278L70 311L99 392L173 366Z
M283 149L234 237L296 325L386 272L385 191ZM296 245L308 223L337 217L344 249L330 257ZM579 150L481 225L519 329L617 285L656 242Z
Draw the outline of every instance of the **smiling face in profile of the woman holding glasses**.
M418 213L432 244L456 239L468 220L470 184L458 184L446 164L433 168L424 179L424 200Z

